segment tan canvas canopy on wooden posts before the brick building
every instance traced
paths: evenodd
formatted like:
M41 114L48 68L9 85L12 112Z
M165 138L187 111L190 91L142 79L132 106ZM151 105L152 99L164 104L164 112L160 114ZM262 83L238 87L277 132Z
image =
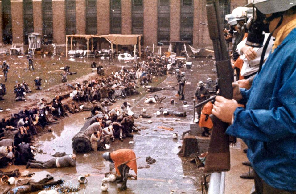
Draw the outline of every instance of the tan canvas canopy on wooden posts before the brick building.
M138 42L139 56L141 57L141 34L107 34L107 35L88 35L88 34L73 34L66 35L66 56L68 56L68 38L71 38L71 50L72 50L72 39L73 38L85 38L87 40L87 50L89 50L89 40L93 38L105 38L111 44L111 50L113 52L113 44L115 45L134 45L134 54L136 53L136 45ZM93 50L93 44L92 44ZM88 52L88 51L87 51ZM88 54L88 53L87 53Z

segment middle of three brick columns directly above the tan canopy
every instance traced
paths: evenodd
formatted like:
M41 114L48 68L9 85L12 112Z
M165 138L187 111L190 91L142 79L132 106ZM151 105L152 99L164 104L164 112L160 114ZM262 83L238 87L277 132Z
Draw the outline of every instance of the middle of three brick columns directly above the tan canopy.
M97 0L97 33L110 33L110 0Z

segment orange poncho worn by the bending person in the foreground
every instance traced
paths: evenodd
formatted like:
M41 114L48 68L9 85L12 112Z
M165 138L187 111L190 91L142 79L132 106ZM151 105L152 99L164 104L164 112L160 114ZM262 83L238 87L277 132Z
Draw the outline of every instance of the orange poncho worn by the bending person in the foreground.
M136 154L131 149L118 149L110 153L111 159L114 161L115 169L118 175L120 175L117 165L120 165L123 162L130 161L136 158ZM128 167L133 169L137 175L137 161L133 160L126 164Z

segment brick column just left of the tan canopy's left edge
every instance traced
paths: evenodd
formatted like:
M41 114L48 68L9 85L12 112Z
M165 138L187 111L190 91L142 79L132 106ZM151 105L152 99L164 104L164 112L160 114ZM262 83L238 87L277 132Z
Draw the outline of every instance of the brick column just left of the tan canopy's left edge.
M65 1L52 1L52 27L53 27L53 42L57 46L64 46L66 39L66 13Z

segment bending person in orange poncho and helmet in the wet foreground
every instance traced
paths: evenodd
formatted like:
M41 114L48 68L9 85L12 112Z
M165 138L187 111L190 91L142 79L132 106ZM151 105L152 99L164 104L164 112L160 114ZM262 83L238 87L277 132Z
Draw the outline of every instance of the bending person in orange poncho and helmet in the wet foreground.
M131 149L118 149L114 152L103 153L103 158L114 163L116 173L121 175L121 179L117 182L122 182L119 190L126 190L126 181L129 176L130 169L133 169L137 175L136 154Z

